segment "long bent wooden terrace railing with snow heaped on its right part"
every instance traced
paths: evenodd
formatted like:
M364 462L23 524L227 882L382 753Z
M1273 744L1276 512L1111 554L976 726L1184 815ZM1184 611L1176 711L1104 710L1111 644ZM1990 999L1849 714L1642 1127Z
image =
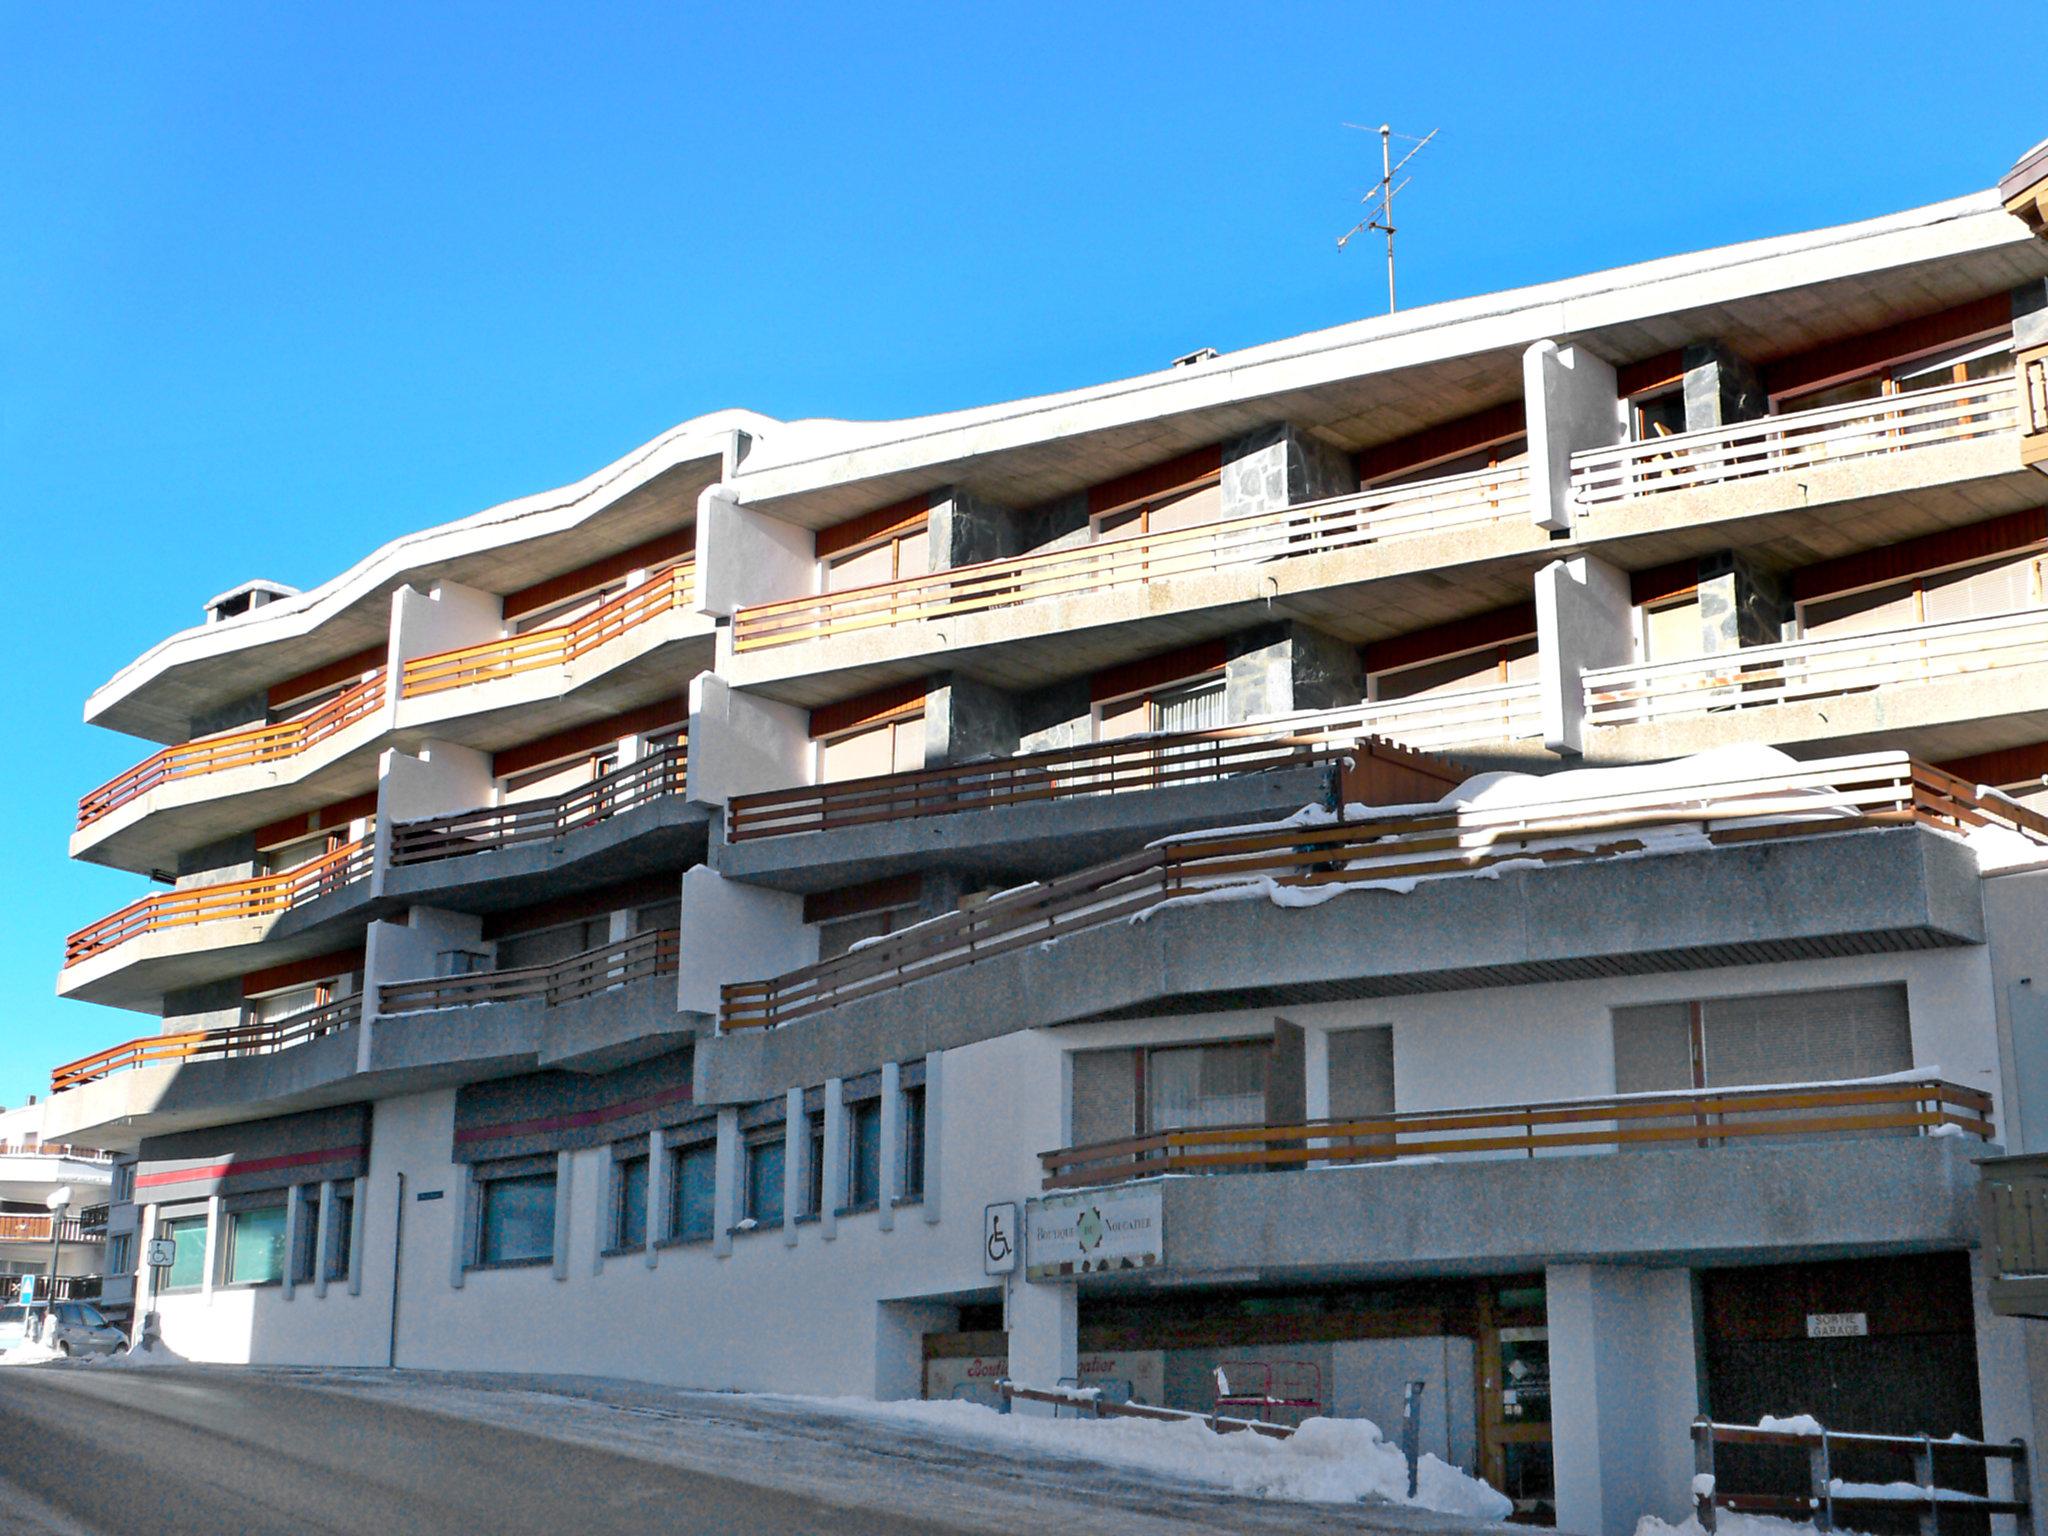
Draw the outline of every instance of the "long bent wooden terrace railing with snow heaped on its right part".
M967 911L905 928L821 965L723 987L727 1030L768 1028L858 997L944 975L995 954L1100 928L1174 897L1223 887L1317 887L1470 874L1495 864L1565 862L1696 842L1815 831L1999 825L2048 850L2048 817L1980 801L1960 778L1903 752L1800 764L1772 776L1686 786L1589 788L1522 805L1448 807L1325 825L1176 838L1057 881L1008 891Z

